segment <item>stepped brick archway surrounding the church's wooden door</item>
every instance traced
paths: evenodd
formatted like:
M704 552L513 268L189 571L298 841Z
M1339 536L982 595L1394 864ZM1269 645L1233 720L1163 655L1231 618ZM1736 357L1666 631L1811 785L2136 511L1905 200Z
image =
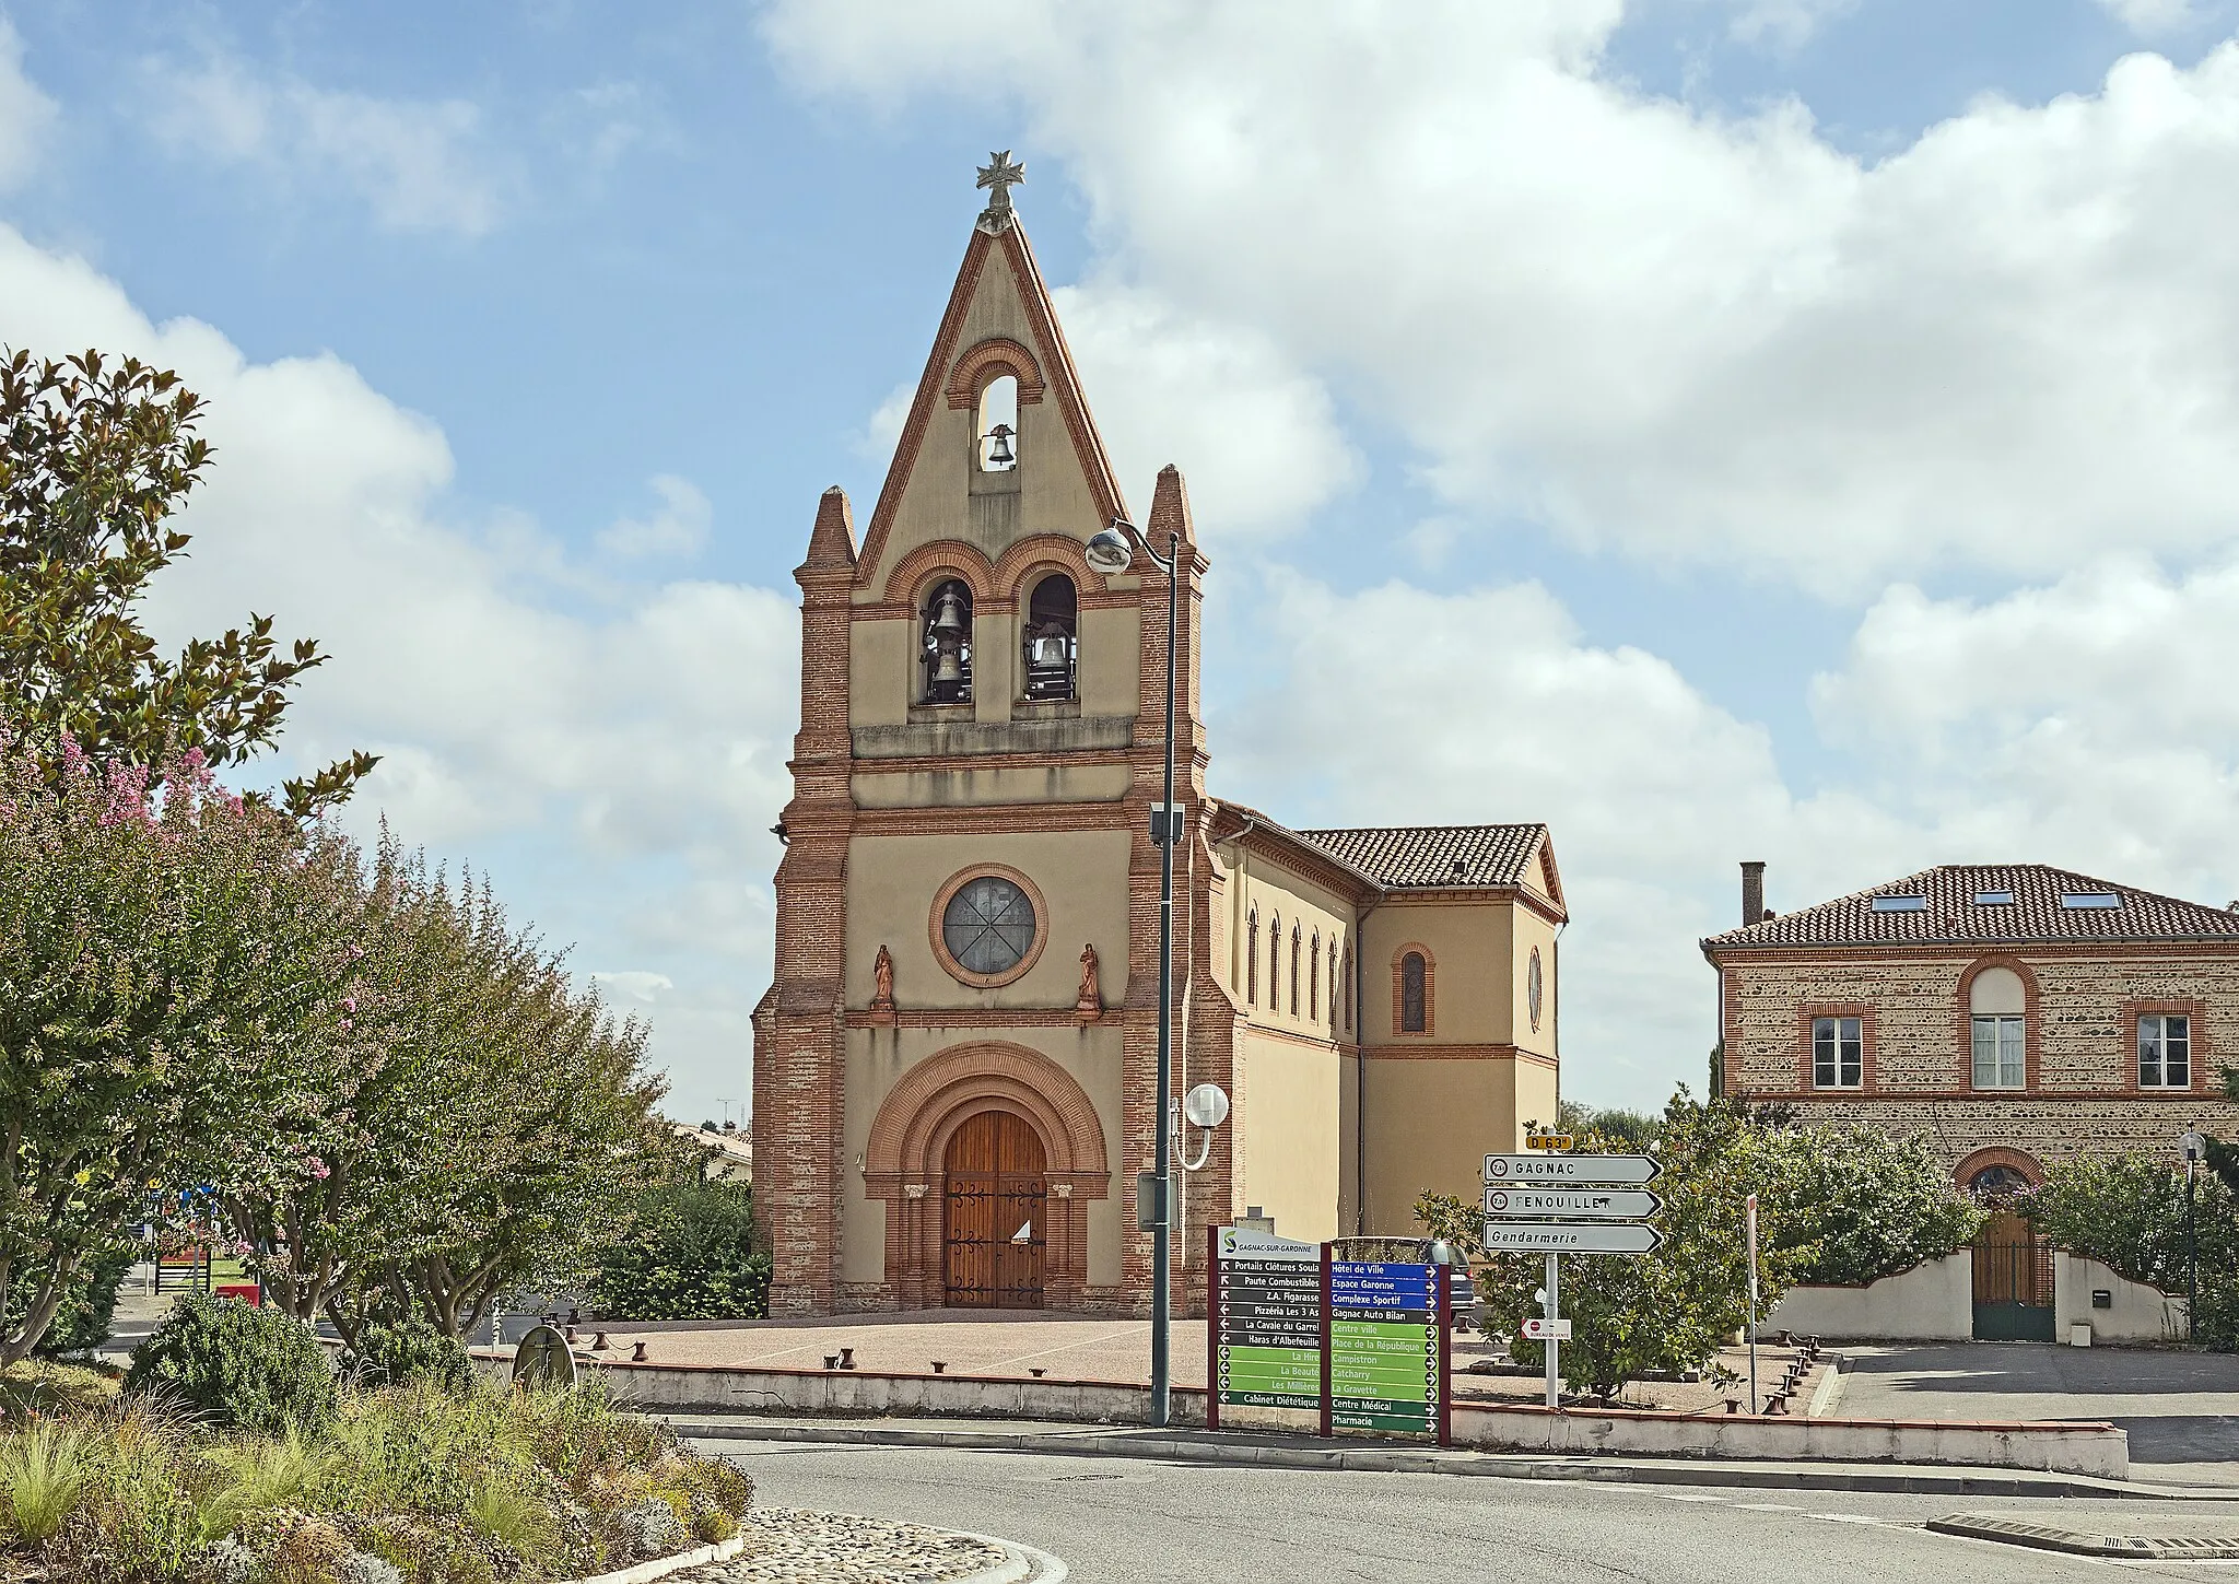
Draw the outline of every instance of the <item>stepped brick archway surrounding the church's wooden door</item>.
M1111 1195L1104 1128L1081 1085L1023 1045L954 1045L902 1074L880 1103L862 1184L887 1206L884 1284L902 1309L940 1304L943 1161L956 1130L981 1112L1008 1112L1041 1141L1043 1293L1050 1309L1079 1309L1088 1284L1088 1201Z

